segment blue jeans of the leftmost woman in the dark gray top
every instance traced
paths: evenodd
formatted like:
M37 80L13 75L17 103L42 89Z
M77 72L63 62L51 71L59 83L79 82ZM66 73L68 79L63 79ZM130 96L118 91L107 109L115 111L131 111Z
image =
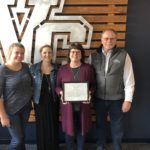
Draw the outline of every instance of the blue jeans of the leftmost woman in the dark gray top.
M8 131L11 135L9 150L25 150L25 128L30 115L30 108L25 108L15 115L9 115L11 126Z

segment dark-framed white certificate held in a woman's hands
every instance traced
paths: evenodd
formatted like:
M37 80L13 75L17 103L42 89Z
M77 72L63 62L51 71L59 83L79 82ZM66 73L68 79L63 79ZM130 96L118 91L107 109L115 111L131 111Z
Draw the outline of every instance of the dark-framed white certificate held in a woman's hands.
M88 101L89 85L88 82L64 82L63 83L64 101Z

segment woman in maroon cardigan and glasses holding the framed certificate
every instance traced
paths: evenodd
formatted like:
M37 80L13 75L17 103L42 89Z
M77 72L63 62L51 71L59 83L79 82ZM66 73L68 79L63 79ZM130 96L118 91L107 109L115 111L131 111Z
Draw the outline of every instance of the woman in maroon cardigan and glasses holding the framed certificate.
M75 139L77 150L83 150L92 123L89 97L95 91L95 76L92 66L84 63L81 44L72 43L68 57L68 64L58 71L56 92L61 96L60 113L67 150L74 149Z

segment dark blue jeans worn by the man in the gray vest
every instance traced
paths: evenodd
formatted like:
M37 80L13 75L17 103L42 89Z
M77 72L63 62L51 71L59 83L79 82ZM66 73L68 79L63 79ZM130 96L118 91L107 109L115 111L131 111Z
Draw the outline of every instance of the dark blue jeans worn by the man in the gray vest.
M113 150L121 150L123 137L123 100L95 100L97 117L98 147L106 143L106 118L109 113Z

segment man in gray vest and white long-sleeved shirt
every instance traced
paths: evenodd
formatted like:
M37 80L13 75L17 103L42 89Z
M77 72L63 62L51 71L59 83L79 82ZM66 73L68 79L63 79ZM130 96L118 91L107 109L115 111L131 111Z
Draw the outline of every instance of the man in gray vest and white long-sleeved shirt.
M108 114L113 150L121 150L123 114L130 110L134 93L135 81L131 59L124 49L116 47L116 42L116 31L103 31L101 46L90 56L90 63L95 68L97 78L97 150L105 149Z

